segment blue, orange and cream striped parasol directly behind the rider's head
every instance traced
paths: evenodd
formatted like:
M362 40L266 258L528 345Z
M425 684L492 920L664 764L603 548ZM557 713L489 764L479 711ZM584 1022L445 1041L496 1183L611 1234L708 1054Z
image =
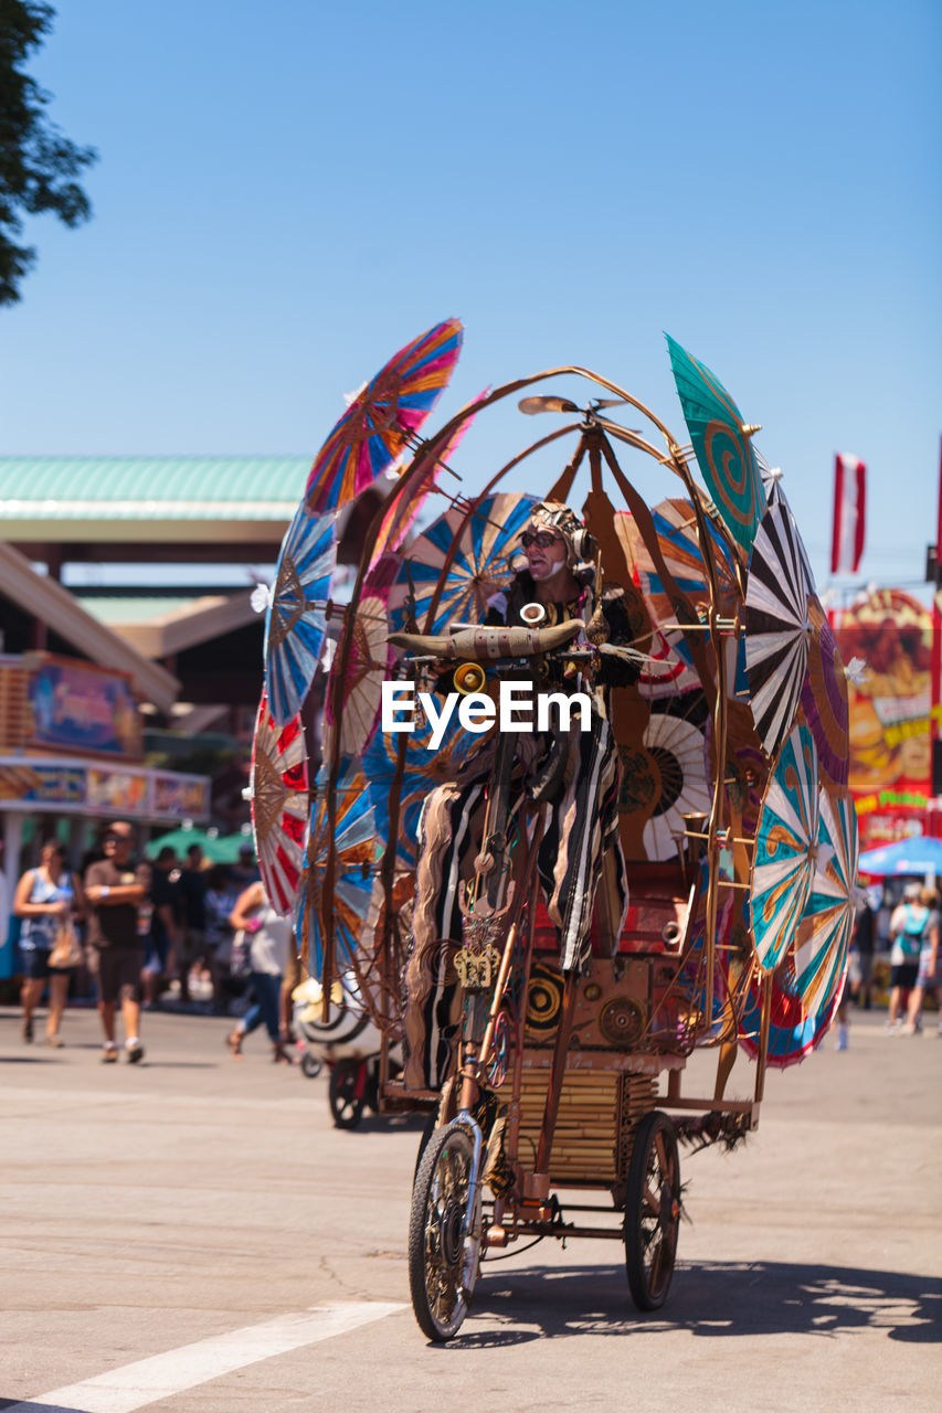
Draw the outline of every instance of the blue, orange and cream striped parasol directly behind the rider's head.
M485 496L468 516L454 507L409 545L389 595L389 622L400 630L407 615L409 581L416 595L416 620L423 633L441 633L455 622L484 620L488 599L509 585L516 537L536 504L535 496ZM434 622L426 623L446 560L451 557Z

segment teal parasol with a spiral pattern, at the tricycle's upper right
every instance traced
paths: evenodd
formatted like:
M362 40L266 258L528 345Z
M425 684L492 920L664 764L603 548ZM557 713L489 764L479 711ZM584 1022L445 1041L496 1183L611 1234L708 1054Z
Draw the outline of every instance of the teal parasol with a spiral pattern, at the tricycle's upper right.
M765 493L743 414L716 374L666 338L697 465L733 537L748 550L765 509Z

